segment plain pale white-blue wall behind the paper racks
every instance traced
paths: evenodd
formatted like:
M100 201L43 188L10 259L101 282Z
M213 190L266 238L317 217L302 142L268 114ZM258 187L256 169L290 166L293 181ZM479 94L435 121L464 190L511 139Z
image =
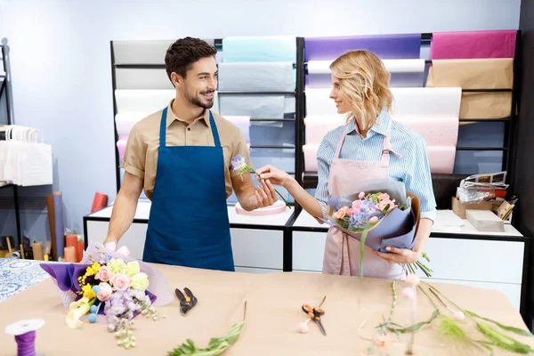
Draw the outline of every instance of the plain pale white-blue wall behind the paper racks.
M520 0L0 0L0 37L16 123L52 143L53 189L82 230L94 192L116 196L111 40L515 29L519 12Z

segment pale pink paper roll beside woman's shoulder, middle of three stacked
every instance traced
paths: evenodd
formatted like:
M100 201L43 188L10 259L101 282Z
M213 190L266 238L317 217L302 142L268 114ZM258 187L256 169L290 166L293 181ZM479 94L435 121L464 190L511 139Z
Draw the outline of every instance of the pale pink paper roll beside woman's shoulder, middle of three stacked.
M417 134L423 136L429 146L456 146L458 139L458 117L394 117Z

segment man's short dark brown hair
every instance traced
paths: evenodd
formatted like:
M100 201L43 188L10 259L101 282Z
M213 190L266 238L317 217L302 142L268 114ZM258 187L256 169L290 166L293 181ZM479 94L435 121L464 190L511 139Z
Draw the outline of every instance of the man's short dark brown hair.
M165 55L165 68L167 76L171 73L185 77L187 71L196 61L214 57L217 49L199 38L185 37L171 44Z

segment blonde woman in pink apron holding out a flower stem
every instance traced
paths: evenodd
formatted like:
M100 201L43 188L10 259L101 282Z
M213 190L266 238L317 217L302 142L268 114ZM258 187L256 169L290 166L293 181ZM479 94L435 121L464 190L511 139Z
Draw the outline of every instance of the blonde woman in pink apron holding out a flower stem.
M319 181L315 198L287 173L273 166L258 169L263 179L285 187L312 216L327 213L330 195L357 193L358 182L391 177L421 199L421 220L411 249L387 247L379 253L364 251L367 277L404 279L406 263L421 256L435 218L435 199L425 140L390 117L390 74L384 63L368 51L345 53L330 65L332 92L339 114L347 124L330 131L317 152ZM340 193L343 191L343 193ZM323 272L360 274L360 241L335 228L328 230Z

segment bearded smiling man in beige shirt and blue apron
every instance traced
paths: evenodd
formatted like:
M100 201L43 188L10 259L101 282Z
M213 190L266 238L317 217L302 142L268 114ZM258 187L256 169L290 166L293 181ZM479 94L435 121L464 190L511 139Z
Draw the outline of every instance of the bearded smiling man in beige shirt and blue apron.
M128 137L125 177L105 243L124 235L144 187L152 201L143 261L234 271L226 199L232 188L250 211L271 206L271 182L255 187L231 159L247 158L239 128L209 110L217 88L216 49L182 38L166 52L166 72L176 89L168 107L143 118Z

